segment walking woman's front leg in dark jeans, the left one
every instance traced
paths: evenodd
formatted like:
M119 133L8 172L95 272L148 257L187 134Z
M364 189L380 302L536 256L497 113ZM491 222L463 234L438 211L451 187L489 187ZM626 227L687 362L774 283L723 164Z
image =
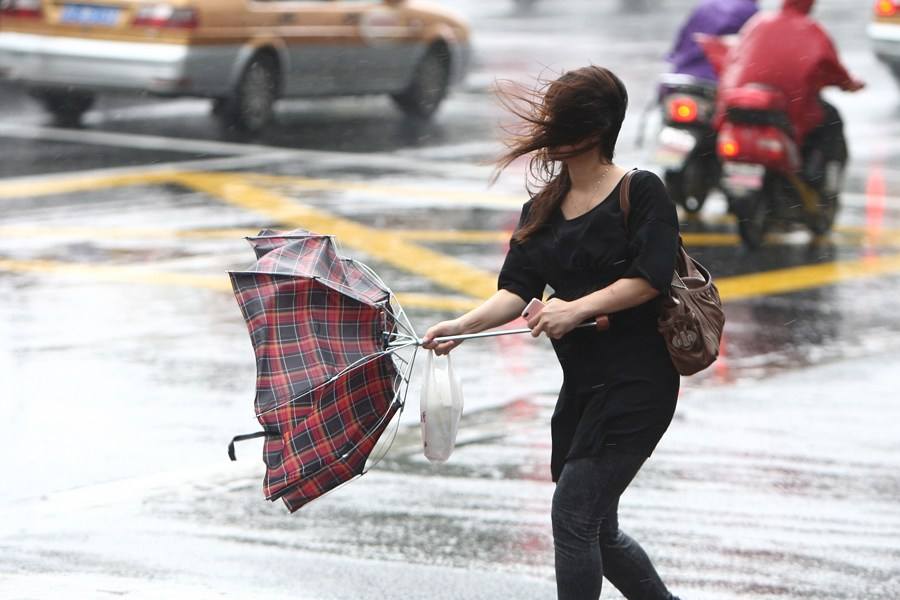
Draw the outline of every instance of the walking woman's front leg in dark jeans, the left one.
M552 509L559 600L600 598L600 526L646 458L610 448L599 457L566 462Z

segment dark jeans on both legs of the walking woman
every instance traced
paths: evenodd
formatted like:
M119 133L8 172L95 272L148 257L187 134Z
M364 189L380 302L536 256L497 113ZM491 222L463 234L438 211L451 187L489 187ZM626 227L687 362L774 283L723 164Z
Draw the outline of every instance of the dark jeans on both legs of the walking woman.
M647 457L609 449L566 462L553 494L559 600L597 600L603 577L628 600L677 600L640 545L619 530L619 496Z

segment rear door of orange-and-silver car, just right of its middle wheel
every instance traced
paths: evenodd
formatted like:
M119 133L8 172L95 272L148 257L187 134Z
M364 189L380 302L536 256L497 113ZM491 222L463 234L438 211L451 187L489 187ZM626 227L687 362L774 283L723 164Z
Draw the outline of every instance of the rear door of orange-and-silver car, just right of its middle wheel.
M342 69L353 27L334 10L332 0L250 0L254 34L284 44L289 64L285 96L344 93Z

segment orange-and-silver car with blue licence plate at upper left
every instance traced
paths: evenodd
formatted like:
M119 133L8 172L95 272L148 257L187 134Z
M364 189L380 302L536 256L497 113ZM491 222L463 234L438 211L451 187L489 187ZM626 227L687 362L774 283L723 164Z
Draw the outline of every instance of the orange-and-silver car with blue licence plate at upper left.
M68 124L106 91L211 98L249 132L282 97L428 118L469 59L467 25L420 0L0 0L0 20L0 76Z

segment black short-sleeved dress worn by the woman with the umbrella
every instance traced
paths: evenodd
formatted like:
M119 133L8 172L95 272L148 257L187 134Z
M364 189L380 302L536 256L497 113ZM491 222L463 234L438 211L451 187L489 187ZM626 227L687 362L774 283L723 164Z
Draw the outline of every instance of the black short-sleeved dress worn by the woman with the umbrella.
M667 292L678 250L678 217L662 181L632 177L628 223L621 182L600 204L566 219L562 211L522 243L512 242L499 288L528 302L575 300L618 279L642 277ZM531 202L522 208L524 224ZM551 421L550 461L557 481L569 458L598 456L616 446L649 456L675 412L679 376L656 329L656 300L610 315L610 328L574 330L553 348L563 385Z

